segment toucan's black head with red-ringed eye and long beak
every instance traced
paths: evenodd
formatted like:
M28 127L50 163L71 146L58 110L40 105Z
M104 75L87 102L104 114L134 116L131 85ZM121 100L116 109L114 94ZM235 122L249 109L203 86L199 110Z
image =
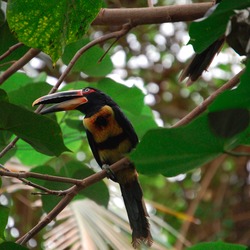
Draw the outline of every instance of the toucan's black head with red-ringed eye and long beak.
M115 104L109 96L100 90L87 87L80 90L63 91L42 96L35 100L32 106L52 103L56 104L43 109L40 114L77 109L88 115L98 111L106 104Z

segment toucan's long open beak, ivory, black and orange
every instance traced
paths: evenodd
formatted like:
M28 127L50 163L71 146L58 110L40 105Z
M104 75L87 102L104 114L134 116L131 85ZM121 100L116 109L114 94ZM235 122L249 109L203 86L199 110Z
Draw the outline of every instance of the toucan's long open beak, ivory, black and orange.
M48 114L57 111L76 109L78 106L86 102L88 102L88 99L83 96L82 90L72 90L42 96L36 99L33 102L32 106L38 104L56 103L55 105L48 107L40 112L40 114Z

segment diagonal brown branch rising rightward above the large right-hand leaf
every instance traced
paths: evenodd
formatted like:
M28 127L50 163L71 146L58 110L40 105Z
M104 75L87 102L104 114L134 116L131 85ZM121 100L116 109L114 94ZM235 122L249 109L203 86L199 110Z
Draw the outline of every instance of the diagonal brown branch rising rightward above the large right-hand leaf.
M242 69L237 75L235 75L232 79L230 79L227 83L225 83L222 87L217 89L213 94L211 94L203 103L193 109L190 113L188 113L185 117L183 117L180 121L175 123L172 128L179 127L185 125L204 112L209 104L211 104L214 99L221 94L223 91L227 89L232 89L235 87L239 81L241 75L244 73L245 69Z

